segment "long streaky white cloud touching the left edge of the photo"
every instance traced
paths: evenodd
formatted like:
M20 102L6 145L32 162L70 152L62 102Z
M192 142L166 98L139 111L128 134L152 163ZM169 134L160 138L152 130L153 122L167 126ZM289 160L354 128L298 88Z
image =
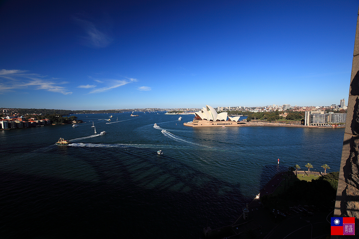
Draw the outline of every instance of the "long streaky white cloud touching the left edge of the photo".
M47 90L64 95L72 94L66 87L59 86L67 82L57 82L57 78L47 78L34 73L27 73L23 70L1 70L0 90L14 91L16 89L32 88L35 90Z

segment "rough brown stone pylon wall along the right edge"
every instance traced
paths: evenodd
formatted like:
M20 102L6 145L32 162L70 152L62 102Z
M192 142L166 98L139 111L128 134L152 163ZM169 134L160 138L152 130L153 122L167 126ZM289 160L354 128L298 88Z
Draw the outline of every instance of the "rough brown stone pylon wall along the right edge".
M334 216L355 217L355 238L359 238L359 11L356 22L353 64L349 86L348 114L341 154ZM344 236L331 236L344 238ZM350 238L354 238L350 237Z

